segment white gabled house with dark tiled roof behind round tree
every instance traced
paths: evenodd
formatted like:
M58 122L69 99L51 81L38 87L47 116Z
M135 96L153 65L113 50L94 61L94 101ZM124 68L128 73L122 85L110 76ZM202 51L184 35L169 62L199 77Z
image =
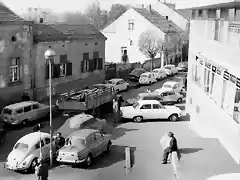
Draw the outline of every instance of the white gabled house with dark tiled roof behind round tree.
M120 63L127 55L129 63L144 63L148 58L139 51L138 43L140 35L149 30L156 32L163 42L177 39L183 33L173 21L160 15L151 6L128 9L102 30L107 37L106 62ZM176 46L180 55L180 44L176 43Z

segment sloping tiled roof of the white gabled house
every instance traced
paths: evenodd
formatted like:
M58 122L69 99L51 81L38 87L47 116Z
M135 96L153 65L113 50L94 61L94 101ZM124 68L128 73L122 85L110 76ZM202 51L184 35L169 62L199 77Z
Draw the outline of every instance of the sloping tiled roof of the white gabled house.
M166 32L178 32L182 33L183 30L178 27L175 23L170 20L167 20L164 16L161 16L157 11L153 9L149 11L145 8L133 8L153 25L161 29L164 33Z

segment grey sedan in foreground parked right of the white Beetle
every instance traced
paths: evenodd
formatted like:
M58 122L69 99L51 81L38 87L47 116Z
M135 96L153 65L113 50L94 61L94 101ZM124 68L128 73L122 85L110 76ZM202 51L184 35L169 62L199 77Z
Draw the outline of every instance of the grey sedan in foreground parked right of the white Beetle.
M93 129L78 130L67 137L65 146L58 151L57 161L75 165L85 162L91 166L95 157L110 151L111 144L110 135Z

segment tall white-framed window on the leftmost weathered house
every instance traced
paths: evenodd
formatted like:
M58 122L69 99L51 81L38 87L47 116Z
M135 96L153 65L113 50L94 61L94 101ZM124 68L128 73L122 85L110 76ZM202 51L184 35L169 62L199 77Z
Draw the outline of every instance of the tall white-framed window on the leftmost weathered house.
M18 82L20 80L20 58L13 58L10 64L10 82Z

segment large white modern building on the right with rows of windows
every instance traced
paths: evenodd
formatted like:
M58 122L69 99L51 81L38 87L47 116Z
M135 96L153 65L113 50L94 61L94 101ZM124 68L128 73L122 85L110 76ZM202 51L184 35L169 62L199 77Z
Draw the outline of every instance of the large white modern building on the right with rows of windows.
M191 1L186 111L206 137L240 163L240 9L235 1Z

